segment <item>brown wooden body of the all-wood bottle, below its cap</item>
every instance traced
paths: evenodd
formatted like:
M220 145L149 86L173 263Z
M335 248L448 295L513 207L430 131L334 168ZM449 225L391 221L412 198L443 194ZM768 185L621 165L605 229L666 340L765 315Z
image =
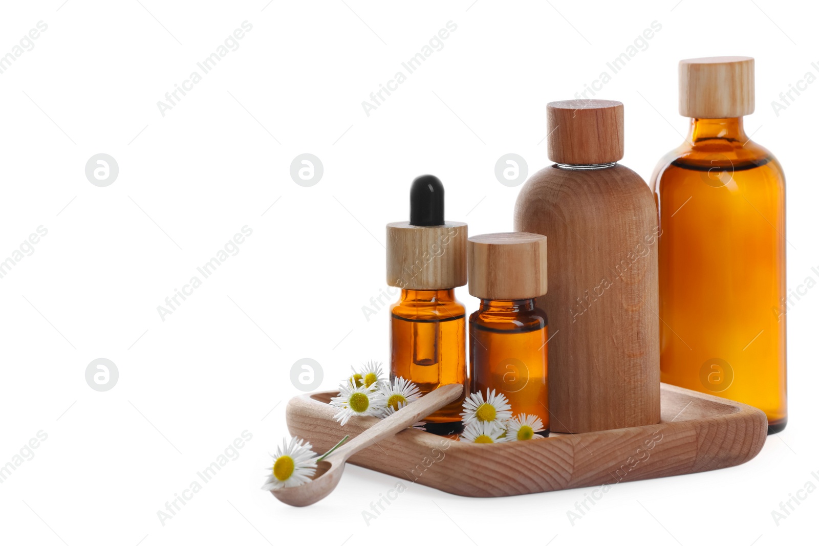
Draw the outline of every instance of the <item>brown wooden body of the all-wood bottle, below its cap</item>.
M515 229L549 239L551 430L589 432L659 421L657 210L631 169L532 175Z

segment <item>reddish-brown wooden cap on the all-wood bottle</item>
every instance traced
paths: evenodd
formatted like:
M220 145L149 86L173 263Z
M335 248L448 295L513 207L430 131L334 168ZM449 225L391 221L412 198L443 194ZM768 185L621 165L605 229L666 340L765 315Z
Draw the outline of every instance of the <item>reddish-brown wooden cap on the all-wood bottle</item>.
M549 159L563 165L604 165L622 160L622 102L595 99L546 105Z

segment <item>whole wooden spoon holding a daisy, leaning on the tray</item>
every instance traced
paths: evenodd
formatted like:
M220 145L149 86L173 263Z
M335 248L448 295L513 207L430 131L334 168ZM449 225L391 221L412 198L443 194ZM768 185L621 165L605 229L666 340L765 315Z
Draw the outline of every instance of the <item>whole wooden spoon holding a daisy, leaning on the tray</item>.
M328 458L319 462L312 481L295 487L271 490L270 493L274 494L276 499L291 506L308 506L324 499L336 489L338 481L342 479L344 463L348 458L361 449L387 438L387 436L405 430L407 427L419 422L422 417L435 413L446 404L458 399L463 390L464 386L460 384L445 385L432 390L432 392L423 395L413 403L400 408L390 417L370 426L369 429L330 453Z

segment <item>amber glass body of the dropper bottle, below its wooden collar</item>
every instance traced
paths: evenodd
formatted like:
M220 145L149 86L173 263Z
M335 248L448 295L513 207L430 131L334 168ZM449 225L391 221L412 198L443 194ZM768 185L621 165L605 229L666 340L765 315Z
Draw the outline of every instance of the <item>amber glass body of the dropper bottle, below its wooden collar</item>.
M423 419L459 422L467 392L466 309L455 300L455 290L402 290L390 311L390 379L409 379L423 394L442 385L463 385L459 399Z

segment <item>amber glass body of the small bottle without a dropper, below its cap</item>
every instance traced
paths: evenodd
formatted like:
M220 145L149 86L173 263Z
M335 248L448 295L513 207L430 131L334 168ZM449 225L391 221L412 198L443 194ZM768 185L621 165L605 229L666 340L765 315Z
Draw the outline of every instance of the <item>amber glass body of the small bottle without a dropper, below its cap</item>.
M495 390L509 399L513 416L541 417L549 431L549 381L545 311L534 300L481 300L469 317L472 392Z

